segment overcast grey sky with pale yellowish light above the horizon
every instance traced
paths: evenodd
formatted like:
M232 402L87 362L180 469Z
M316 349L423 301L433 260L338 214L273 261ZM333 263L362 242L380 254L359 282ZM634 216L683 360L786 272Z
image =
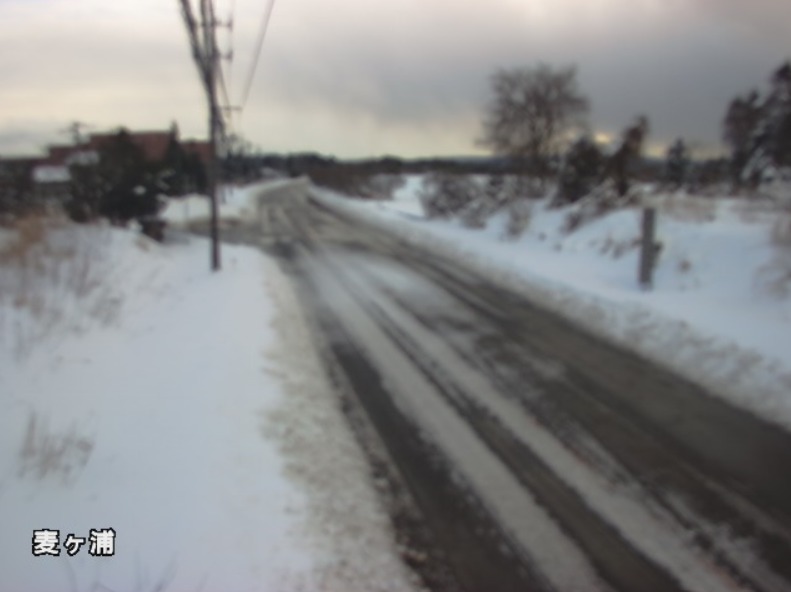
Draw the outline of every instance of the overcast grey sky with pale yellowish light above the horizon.
M266 0L215 5L238 102ZM789 38L789 0L277 0L235 126L265 151L473 154L490 74L544 61L578 66L601 133L645 113L656 145L718 147ZM0 155L75 120L205 136L205 111L178 0L0 0Z

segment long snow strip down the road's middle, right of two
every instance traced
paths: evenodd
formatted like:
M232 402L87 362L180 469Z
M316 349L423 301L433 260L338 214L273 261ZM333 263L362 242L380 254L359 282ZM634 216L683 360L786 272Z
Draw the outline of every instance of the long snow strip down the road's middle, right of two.
M343 275L350 293L366 295L357 297L360 306L432 377L438 392L536 495L608 583L619 590L658 592L740 589L687 544L685 533L673 532L661 523L663 516L651 515L635 499L619 495L521 409L500 397L485 377L465 368L463 360L454 360L454 352L435 334L398 310L385 292L372 290L375 281L363 280L365 290L359 279L351 281L358 275L353 269L359 268L348 267ZM337 267L336 272L341 273ZM385 301L387 306L381 304ZM651 537L646 538L646 532Z

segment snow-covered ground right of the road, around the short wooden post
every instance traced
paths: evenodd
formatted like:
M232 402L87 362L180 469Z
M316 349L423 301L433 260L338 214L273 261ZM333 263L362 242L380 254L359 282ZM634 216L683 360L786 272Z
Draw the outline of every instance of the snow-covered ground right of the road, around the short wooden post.
M663 248L653 290L637 281L640 210L620 209L573 232L573 208L536 200L524 234L506 238L507 216L481 230L427 220L420 177L392 201L315 194L326 205L495 281L791 427L791 241L772 238L776 206L729 198L655 198ZM791 214L786 214L791 215Z

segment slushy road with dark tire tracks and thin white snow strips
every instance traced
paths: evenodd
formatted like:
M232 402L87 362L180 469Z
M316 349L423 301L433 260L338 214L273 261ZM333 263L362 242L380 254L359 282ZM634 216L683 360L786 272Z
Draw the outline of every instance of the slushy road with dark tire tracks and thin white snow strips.
M463 588L791 589L788 434L310 191L227 238L292 275Z

